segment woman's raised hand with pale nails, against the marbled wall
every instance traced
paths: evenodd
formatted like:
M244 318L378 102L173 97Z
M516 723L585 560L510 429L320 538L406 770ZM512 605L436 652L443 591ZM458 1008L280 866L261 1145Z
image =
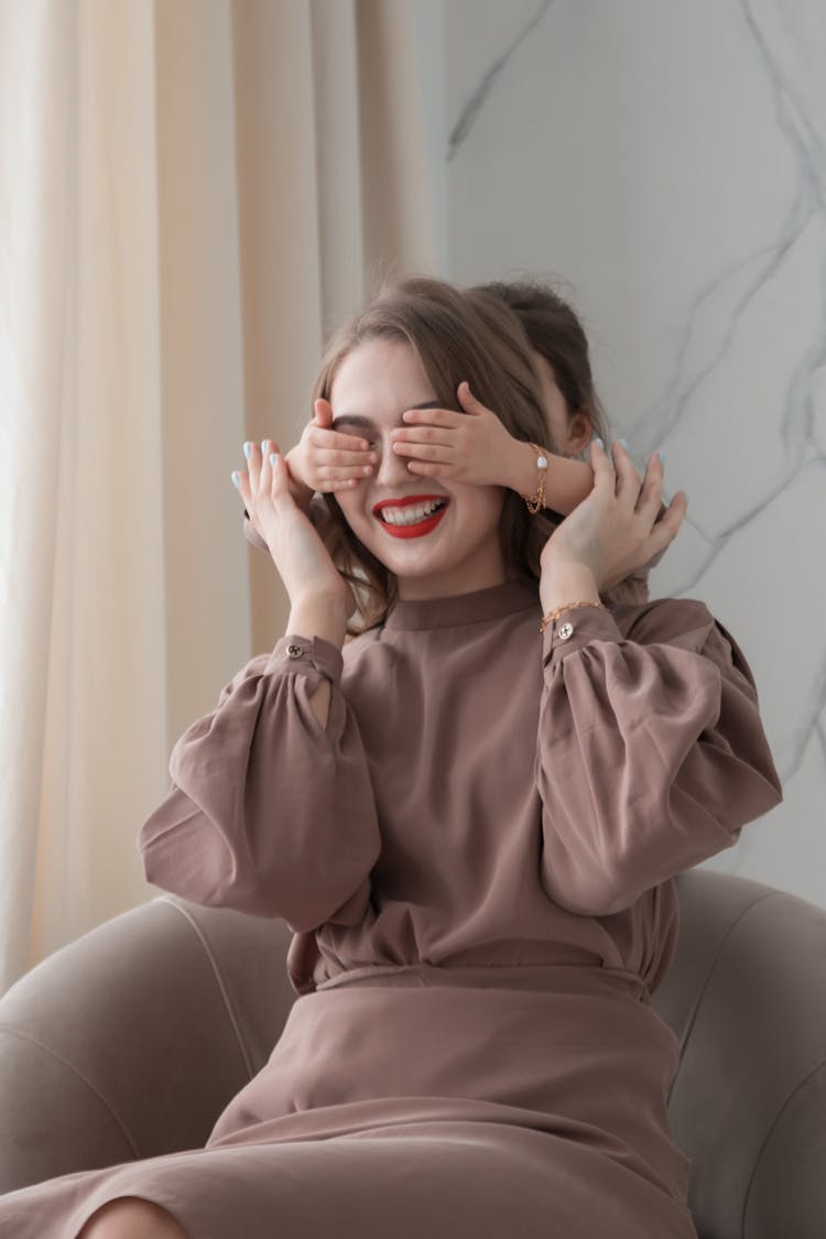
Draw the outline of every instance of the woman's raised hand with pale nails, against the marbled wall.
M591 441L593 489L557 525L540 558L542 570L585 565L599 592L644 565L651 567L659 563L689 508L684 491L677 491L667 507L663 507L659 452L651 452L643 478L618 440L612 445L612 455L613 460L598 439Z

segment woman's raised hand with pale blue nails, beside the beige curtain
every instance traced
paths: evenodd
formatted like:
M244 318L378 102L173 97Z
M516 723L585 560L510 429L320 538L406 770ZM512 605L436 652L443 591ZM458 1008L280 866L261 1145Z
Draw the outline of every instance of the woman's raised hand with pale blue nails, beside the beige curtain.
M233 481L253 527L269 546L291 606L327 598L341 605L349 618L355 611L353 592L290 493L287 466L277 445L270 439L260 447L250 444L248 470L234 473Z

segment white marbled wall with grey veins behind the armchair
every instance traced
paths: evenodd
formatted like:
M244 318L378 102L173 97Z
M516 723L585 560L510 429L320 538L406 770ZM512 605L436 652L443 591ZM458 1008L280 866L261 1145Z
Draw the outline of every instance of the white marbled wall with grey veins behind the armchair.
M689 492L651 593L755 674L785 802L707 866L826 906L826 7L420 4L445 274L568 281L613 435Z

